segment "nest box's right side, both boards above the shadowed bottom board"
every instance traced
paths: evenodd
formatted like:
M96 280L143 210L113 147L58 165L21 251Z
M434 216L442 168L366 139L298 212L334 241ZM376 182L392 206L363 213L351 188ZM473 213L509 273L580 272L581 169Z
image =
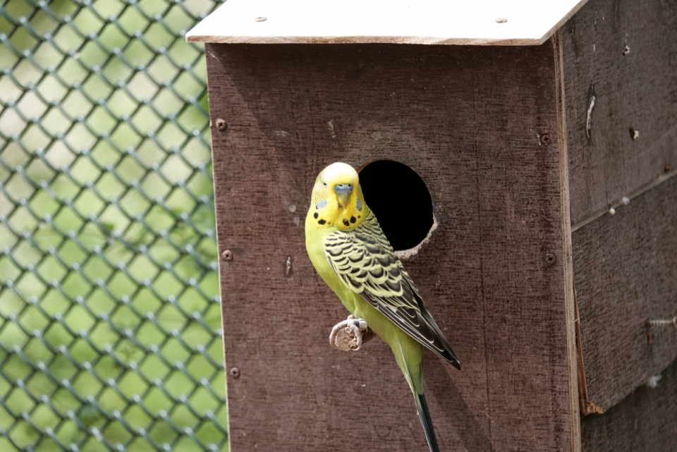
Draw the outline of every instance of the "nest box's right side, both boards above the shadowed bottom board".
M677 314L677 4L591 0L561 35L581 387L609 409L677 356L646 327Z

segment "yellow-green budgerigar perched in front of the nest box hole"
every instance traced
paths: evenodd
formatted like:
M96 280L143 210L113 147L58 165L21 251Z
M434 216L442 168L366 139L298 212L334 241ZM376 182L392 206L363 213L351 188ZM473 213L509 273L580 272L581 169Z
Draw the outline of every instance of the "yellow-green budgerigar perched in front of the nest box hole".
M461 364L365 203L352 166L334 163L317 176L305 219L305 247L355 322L363 319L393 350L430 451L439 452L423 395L423 347L457 369Z

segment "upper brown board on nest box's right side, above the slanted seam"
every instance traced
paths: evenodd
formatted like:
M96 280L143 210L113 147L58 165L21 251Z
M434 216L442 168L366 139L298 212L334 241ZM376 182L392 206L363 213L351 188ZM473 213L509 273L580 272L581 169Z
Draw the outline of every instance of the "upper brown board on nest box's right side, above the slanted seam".
M579 224L677 168L677 3L590 1L563 26L563 48Z

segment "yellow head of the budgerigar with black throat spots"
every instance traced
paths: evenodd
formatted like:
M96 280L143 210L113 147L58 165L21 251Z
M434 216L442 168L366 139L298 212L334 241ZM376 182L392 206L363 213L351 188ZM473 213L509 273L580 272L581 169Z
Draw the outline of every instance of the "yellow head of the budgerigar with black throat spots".
M348 164L336 162L323 169L315 180L306 224L348 230L362 223L367 209L358 172Z

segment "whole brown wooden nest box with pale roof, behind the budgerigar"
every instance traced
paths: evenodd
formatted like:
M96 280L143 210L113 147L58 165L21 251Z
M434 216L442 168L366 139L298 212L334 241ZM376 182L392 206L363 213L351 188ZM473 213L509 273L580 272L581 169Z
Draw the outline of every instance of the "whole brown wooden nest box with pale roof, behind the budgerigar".
M442 451L677 450L676 17L674 1L229 0L190 31L231 450L427 450L386 344L329 346L346 311L303 222L334 161L362 170L367 203L396 200L387 220L372 207L415 248L403 264L461 359L426 355Z

